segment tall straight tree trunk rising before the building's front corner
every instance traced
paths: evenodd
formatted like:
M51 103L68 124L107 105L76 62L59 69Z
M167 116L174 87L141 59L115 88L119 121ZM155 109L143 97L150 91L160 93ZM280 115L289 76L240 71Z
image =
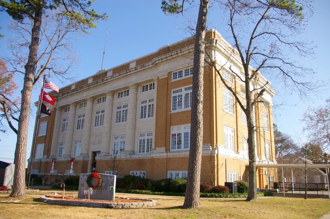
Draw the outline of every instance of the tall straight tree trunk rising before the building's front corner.
M207 8L208 0L200 0L193 56L190 150L183 208L201 207L199 201L199 184L203 144L204 38Z

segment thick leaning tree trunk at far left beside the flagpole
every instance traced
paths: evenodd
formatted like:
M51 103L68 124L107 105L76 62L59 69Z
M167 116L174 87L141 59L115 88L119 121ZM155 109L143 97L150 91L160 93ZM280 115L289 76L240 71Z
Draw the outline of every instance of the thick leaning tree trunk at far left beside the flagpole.
M21 90L21 109L18 121L17 142L15 148L15 173L12 191L12 197L25 196L25 163L26 163L26 145L27 131L30 115L31 93L33 88L34 68L36 65L36 55L38 51L40 27L42 16L42 1L37 6L34 13L31 44L29 46L28 61L25 65L24 83ZM33 154L32 154L33 155Z

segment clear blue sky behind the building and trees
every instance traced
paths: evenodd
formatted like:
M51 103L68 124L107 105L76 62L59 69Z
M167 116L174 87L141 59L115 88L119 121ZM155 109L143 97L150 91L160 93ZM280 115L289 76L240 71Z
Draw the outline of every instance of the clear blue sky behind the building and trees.
M161 0L96 0L93 8L98 13L109 15L109 19L100 21L97 28L90 30L91 34L72 41L78 61L77 67L71 69L70 72L71 76L75 76L74 80L85 78L100 70L106 28L109 30L103 68L112 68L156 51L159 47L191 36L191 33L185 29L187 19L181 15L164 15L160 9L160 2ZM329 80L330 73L327 62L330 57L328 54L328 51L330 51L330 43L328 43L330 39L330 13L328 12L330 1L317 0L313 6L314 15L308 20L301 38L313 41L313 44L317 47L314 50L313 57L303 60L303 64L311 66L317 72L315 77ZM196 9L191 8L191 12L187 16L191 16L196 12ZM195 16L197 16L196 13ZM6 29L8 20L9 16L5 12L0 12L0 26L2 26L0 33L6 37L10 37L10 33ZM209 8L207 28L216 29L231 43L225 20L226 18L223 19L223 13L216 5ZM0 39L0 56L8 52L6 37ZM55 78L50 78L50 80L59 87L72 82L64 81L62 83ZM281 104L273 110L274 123L278 125L280 131L286 132L294 138L301 137L304 140L305 137L300 122L302 114L308 105L324 105L325 99L330 97L329 85L321 91L318 97L306 101L301 101L294 92L283 93L280 84L272 83L272 85L277 92L273 102L276 105ZM38 89L38 86L34 88L34 90ZM32 96L32 101L37 101L36 95ZM35 115L36 109L33 110L31 115ZM30 118L27 157L29 157L31 148L34 119L35 117ZM16 143L15 134L8 130L6 133L0 133L0 139L0 160L12 162Z

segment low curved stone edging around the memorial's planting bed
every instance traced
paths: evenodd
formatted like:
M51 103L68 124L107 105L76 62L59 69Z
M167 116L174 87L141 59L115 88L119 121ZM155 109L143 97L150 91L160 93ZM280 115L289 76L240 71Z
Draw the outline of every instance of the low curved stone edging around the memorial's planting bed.
M133 207L151 207L156 205L156 201L153 199L144 198L126 198L124 199L134 199L134 200L146 200L147 202L88 202L88 201L77 201L77 200L63 200L54 199L51 197L46 197L45 195L40 196L40 200L45 203L50 204L61 204L61 205L73 205L73 206L83 206L83 207L109 207L109 208L133 208Z

